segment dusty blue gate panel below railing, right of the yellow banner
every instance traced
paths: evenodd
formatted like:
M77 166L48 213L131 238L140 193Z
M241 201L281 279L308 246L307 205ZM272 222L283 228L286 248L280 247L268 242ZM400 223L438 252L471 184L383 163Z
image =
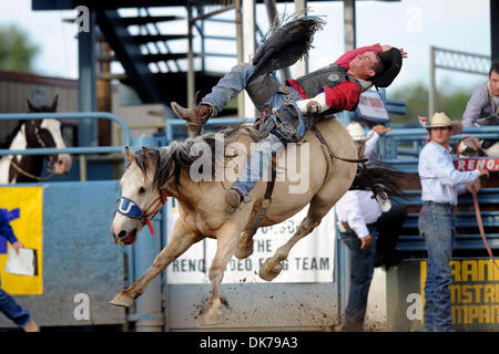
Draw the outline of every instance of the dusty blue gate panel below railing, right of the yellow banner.
M108 304L124 287L123 248L110 232L119 181L41 185L43 294L16 300L42 326L124 323L124 309ZM89 320L74 314L81 299L88 300ZM12 326L0 316L0 327Z

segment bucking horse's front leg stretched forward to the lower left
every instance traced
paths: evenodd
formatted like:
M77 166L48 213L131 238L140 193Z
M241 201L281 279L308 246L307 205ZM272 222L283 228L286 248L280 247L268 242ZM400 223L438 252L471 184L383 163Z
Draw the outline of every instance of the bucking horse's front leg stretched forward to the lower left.
M202 239L203 237L200 237L187 229L186 223L182 218L176 220L173 226L172 238L169 244L160 252L160 254L157 254L152 266L132 285L120 291L110 303L124 308L132 306L134 300L145 291L147 285L157 274L160 274L179 256L184 253L193 243Z

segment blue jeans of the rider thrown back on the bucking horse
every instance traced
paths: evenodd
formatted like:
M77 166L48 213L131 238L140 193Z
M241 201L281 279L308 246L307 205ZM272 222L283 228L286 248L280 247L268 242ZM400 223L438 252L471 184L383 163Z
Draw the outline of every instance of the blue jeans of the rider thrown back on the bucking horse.
M281 92L277 80L271 75L262 75L248 83L247 80L254 71L255 66L247 63L235 65L201 102L211 104L213 113L216 115L240 92L246 90L258 110L279 106L285 98L285 93ZM295 97L299 97L293 87L288 87L288 90L293 91ZM274 134L269 134L258 142L252 148L249 159L232 188L238 189L244 196L247 196L256 183L262 180L265 169L271 166L272 154L281 148L283 148L283 144Z

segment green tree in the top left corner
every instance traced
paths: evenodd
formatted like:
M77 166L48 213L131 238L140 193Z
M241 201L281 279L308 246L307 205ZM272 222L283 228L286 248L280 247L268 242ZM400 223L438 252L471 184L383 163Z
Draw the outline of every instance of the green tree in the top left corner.
M32 72L39 48L16 25L0 27L0 70Z

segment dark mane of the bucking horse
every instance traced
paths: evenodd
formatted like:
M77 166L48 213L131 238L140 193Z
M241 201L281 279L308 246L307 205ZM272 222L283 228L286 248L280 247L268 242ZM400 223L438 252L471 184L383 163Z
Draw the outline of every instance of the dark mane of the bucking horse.
M142 171L146 171L150 164L155 164L154 186L161 188L166 181L174 177L175 184L180 186L181 171L183 168L189 168L191 165L203 158L203 152L210 152L212 176L215 174L216 166L223 164L223 157L216 156L215 146L220 137L223 137L224 150L225 147L233 140L235 133L244 124L240 123L234 127L224 128L216 133L206 133L195 138L187 138L185 142L173 142L169 146L162 148L141 149L135 153L135 164ZM205 156L207 158L208 156ZM222 157L222 162L221 162Z

